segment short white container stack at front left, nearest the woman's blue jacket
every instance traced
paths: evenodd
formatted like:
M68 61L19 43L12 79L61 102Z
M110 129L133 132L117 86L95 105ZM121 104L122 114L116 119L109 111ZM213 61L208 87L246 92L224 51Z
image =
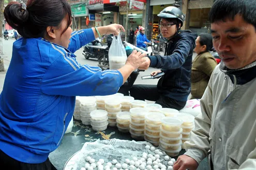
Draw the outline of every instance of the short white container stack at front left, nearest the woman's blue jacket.
M91 126L95 131L103 131L108 127L108 112L104 110L95 110L91 114Z

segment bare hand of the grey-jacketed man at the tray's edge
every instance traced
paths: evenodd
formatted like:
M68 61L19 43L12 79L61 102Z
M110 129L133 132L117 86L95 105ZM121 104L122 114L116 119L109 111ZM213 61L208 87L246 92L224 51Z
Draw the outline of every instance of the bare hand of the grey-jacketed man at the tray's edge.
M195 170L198 168L198 162L185 154L179 156L173 165L173 170Z

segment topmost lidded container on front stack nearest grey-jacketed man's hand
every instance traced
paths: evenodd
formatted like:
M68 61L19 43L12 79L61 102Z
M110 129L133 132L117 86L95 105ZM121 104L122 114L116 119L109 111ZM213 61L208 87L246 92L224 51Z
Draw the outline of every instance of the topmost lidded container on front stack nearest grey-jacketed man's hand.
M162 129L169 132L177 132L182 127L182 119L176 117L162 118Z

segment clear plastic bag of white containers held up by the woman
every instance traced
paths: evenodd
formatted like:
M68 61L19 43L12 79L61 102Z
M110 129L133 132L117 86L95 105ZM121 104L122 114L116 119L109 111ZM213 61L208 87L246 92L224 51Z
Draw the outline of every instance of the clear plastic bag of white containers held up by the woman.
M109 67L110 70L117 70L125 65L127 55L121 40L121 35L114 36L109 48Z

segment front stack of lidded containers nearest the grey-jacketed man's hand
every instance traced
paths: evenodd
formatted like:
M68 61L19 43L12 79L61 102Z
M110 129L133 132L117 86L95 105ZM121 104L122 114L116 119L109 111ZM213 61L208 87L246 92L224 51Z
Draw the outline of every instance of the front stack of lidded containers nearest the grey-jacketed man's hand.
M182 150L182 119L164 117L160 127L159 148L170 157L175 157Z

